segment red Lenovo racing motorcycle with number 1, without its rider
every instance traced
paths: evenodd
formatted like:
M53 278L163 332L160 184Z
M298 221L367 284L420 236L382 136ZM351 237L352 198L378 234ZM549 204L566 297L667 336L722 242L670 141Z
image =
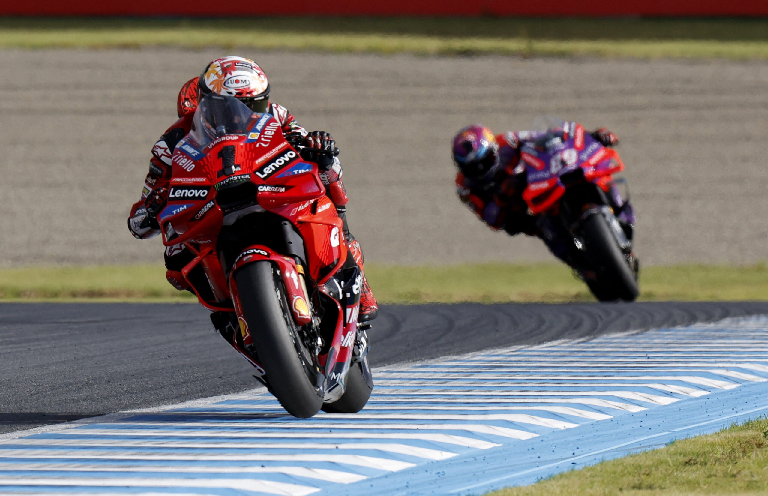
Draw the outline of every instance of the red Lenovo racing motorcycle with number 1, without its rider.
M373 388L362 274L301 150L272 115L207 95L174 149L157 221L165 246L194 253L181 273L283 408L358 412Z

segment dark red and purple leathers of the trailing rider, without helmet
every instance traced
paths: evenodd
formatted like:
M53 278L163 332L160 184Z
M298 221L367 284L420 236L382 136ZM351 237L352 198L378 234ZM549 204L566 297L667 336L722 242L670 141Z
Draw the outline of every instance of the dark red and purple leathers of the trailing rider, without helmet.
M551 222L546 217L528 213L528 203L522 193L528 186L525 164L520 160L520 148L527 142L535 142L549 131L509 131L494 137L498 145L501 167L491 178L472 180L462 172L456 175L456 192L477 217L492 230L505 230L511 236L525 233L538 236L554 256L569 266L574 266L571 247L563 240L561 223ZM592 137L606 147L618 144L618 137L601 127L591 133Z

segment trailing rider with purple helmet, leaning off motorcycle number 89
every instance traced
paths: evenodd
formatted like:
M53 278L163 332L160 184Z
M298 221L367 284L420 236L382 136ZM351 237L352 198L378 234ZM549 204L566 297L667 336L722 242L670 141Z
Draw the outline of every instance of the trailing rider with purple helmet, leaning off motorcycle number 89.
M549 223L546 217L528 213L528 204L522 197L528 182L520 156L524 144L535 143L551 131L562 137L569 132L570 125L574 123L564 123L561 129L549 131L509 131L494 135L488 127L473 124L455 135L452 157L458 167L455 180L458 197L480 220L492 230L505 230L511 236L519 233L537 236L554 256L574 267L578 260L574 260L570 246L562 242L566 238L559 232L561 227ZM605 147L619 142L617 135L605 127L590 134Z

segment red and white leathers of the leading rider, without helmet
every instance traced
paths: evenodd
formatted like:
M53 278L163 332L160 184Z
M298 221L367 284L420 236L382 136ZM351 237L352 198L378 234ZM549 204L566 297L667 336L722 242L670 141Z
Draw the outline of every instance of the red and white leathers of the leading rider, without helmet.
M178 142L189 133L194 111L197 109L197 78L187 81L182 87L179 93L177 109L179 120L168 127L160 140L152 147L149 173L144 180L144 190L141 192L141 199L134 203L131 208L130 217L128 217L128 229L140 240L146 240L160 233L160 226L154 217L167 201L172 174L171 157L174 154L174 149ZM307 132L296 121L293 114L280 104L270 103L268 112L280 123L283 135L291 144L308 144L310 146L314 144L318 147L323 140L333 140L326 133L315 131L310 134ZM341 179L343 170L339 159L333 157L333 160L316 161L318 161L320 166L319 175L326 187L326 195L333 201L339 217L343 220L343 231L349 246L349 252L352 254L361 272L363 272L364 257L360 243L349 232L346 220L346 203L349 201L349 198ZM187 279L182 275L181 269L193 259L194 255L189 250L186 250L183 245L167 246L165 250L166 277L171 285L180 290L190 289L190 284L187 283ZM361 322L365 322L376 317L378 306L364 272L362 280L359 319ZM192 283L196 288L207 286L207 281L204 280L200 280L199 284L197 281L192 281Z

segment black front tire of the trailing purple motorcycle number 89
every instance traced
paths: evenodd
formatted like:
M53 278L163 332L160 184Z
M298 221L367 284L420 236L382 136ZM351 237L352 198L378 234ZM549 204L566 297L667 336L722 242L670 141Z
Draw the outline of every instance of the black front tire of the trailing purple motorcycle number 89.
M597 281L588 282L592 294L602 302L637 299L637 274L617 243L608 221L595 213L582 223L581 229L587 253L598 274Z

